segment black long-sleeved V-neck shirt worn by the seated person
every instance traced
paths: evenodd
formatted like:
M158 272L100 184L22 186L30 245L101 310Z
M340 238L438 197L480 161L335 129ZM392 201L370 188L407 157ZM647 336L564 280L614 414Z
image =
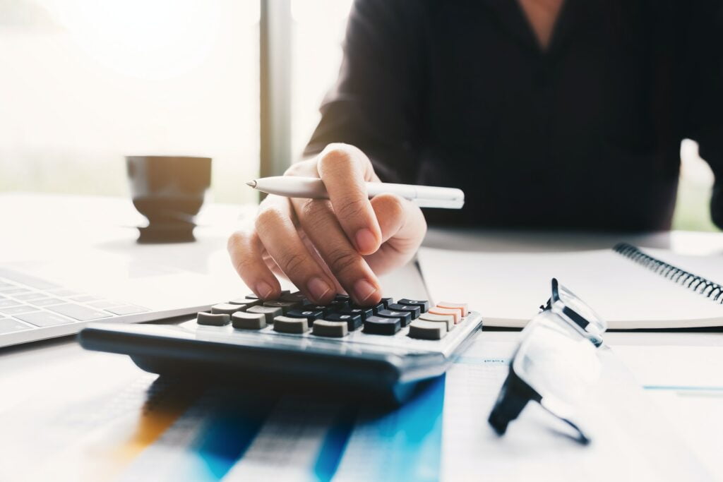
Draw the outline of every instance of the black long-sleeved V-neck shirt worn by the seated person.
M723 178L722 5L566 0L543 50L516 0L356 0L307 154L466 192L432 222L667 229L681 139Z

